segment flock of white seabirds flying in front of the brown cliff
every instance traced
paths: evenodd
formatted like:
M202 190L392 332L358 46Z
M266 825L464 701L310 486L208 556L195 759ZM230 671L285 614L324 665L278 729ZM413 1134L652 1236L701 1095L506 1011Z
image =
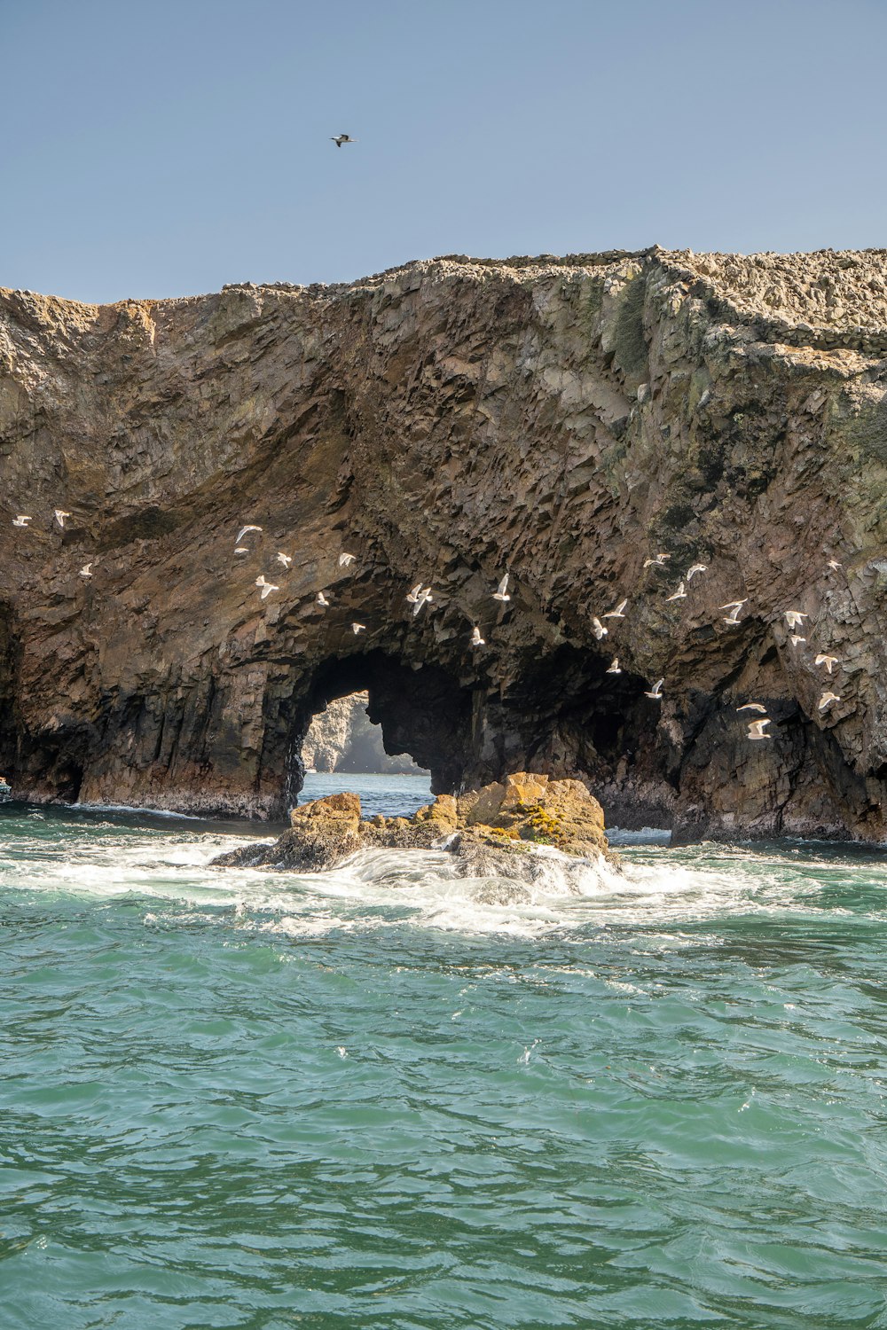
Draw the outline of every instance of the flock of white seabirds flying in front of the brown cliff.
M354 140L348 138L347 136L340 136L340 137L342 137L343 142L354 142ZM336 140L336 142L338 142L338 140ZM64 529L65 519L68 519L68 517L70 517L70 513L66 512L64 508L55 508L53 509L53 519L59 524L60 528ZM17 513L16 517L13 519L13 521L12 521L12 525L13 527L19 527L20 529L27 529L31 521L33 521L33 517L28 516L27 513ZM237 536L234 539L234 555L235 556L249 555L250 545L245 545L243 541L246 540L247 536L251 536L254 533L261 535L262 533L262 527L257 525L255 523L246 523L243 527L241 527L241 529L238 531L238 533L237 533ZM660 553L660 555L656 555L652 559L645 559L644 560L644 568L645 569L646 568L653 568L653 569L665 569L665 571L668 571L668 564L669 564L670 557L672 557L670 555ZM277 552L275 560L277 560L278 564L281 564L281 567L285 571L289 569L291 567L291 564L293 564L293 556L285 553L283 551L278 551ZM339 555L339 568L350 568L355 561L356 561L356 555L347 553L346 551L343 551ZM92 577L93 563L94 563L94 560L90 560L89 563L86 563L86 564L82 565L82 568L80 569L80 577L82 577L82 579ZM836 572L838 569L842 568L842 564L836 559L830 559L827 561L826 567L828 569L831 569L832 572ZM669 604L669 602L676 602L676 601L686 600L686 597L688 597L688 585L692 583L692 580L694 577L697 577L699 575L703 575L709 569L707 569L706 564L698 564L698 563L697 564L692 564L688 568L688 571L685 572L685 575L681 579L681 581L678 583L677 589L674 592L672 592L670 596L665 597L665 602ZM504 604L504 602L509 601L511 600L511 595L508 592L508 584L509 584L509 573L504 573L504 576L500 579L500 581L499 581L499 584L496 587L496 591L491 592L492 600L499 601L500 604ZM255 587L259 591L261 600L267 600L267 597L270 595L273 595L274 592L279 592L281 591L279 584L270 581L265 576L265 573L259 573L259 576L255 579ZM331 604L331 601L328 598L330 595L332 595L332 592L327 593L326 589L324 591L319 591L317 593L317 596L315 596L315 604L320 609L328 609L330 604ZM423 608L426 605L431 605L434 602L434 598L435 597L434 597L432 588L431 587L426 587L422 581L418 581L415 584L415 587L411 587L410 591L407 592L407 596L406 596L406 600L408 601L408 604L412 605L414 617L418 616L418 614L420 614L422 610L423 610ZM747 604L747 597L745 597L743 600L730 600L725 605L719 605L718 609L729 610L729 613L725 614L722 622L727 624L730 628L735 628L741 622L739 613L741 613L742 608L746 604ZM625 597L624 600L620 600L618 604L614 605L613 609L608 610L604 614L600 614L600 617L597 614L592 614L592 630L593 630L594 637L597 638L598 642L602 641L605 637L609 636L609 628L605 626L604 620L621 620L621 618L625 618L626 617L626 613L625 613L626 609L628 609L628 597ZM799 609L786 609L782 613L785 616L787 628L791 630L790 632L790 637L789 637L789 641L790 641L791 646L793 648L798 648L798 646L805 645L806 641L807 641L807 638L803 636L803 626L805 626L805 620L809 618L810 616L807 613L805 613L803 610L799 610ZM356 620L352 621L352 624L351 624L351 632L355 634L355 637L359 636L360 633L366 633L366 630L367 630L366 624L360 624ZM487 641L483 637L483 634L480 632L480 626L477 624L475 624L472 626L472 629L471 629L471 637L469 637L468 642L469 642L469 646L472 649L487 645ZM828 656L826 652L819 652L817 654L815 660L814 660L814 665L822 666L827 672L828 676L831 676L832 669L838 664L839 664L838 657L836 656ZM622 668L620 665L618 656L613 657L613 660L610 661L610 664L609 664L609 666L608 666L608 669L606 669L605 673L606 674L621 674L622 673ZM661 702L662 701L662 686L664 686L664 684L665 684L665 676L662 678L658 678L656 681L656 684L653 684L653 686L644 693L644 696L649 697L654 702ZM824 713L824 712L828 710L830 706L832 706L835 702L839 702L839 701L840 701L840 696L838 693L832 693L830 688L823 688L822 694L819 697L819 702L818 702L818 710L821 713ZM737 708L737 712L738 713L754 712L754 713L757 713L759 716L759 720L754 720L754 721L749 721L747 722L749 724L747 738L750 738L750 739L771 739L773 738L771 734L765 734L766 728L771 722L770 722L770 717L766 714L767 709L766 709L766 706L763 706L762 702L745 702L742 706Z

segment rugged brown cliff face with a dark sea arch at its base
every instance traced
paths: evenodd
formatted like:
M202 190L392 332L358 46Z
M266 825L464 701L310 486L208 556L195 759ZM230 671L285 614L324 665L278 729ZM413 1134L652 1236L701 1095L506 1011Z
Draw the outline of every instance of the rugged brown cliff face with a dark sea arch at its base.
M882 839L886 391L884 251L3 293L0 769L32 798L278 817L313 713L368 689L436 791L578 774L610 822Z

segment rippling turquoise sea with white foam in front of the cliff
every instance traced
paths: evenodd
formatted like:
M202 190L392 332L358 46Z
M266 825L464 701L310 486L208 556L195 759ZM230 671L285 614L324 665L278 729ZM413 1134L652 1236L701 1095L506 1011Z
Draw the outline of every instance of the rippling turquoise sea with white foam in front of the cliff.
M883 854L253 834L0 809L3 1330L887 1326Z

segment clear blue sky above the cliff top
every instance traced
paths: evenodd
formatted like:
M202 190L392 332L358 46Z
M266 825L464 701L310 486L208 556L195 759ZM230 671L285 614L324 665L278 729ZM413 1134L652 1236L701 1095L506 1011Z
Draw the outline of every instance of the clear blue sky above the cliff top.
M0 286L887 245L886 0L0 0Z

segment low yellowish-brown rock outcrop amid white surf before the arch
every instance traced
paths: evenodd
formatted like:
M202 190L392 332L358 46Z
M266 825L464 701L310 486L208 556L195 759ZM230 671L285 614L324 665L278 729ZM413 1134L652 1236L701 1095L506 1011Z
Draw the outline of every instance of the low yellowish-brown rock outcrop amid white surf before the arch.
M294 809L290 823L274 843L242 846L213 863L320 872L358 850L440 849L453 855L460 876L532 882L544 872L532 854L539 846L593 862L610 858L604 811L585 786L528 771L469 794L439 794L411 818L363 821L359 795L331 794Z

